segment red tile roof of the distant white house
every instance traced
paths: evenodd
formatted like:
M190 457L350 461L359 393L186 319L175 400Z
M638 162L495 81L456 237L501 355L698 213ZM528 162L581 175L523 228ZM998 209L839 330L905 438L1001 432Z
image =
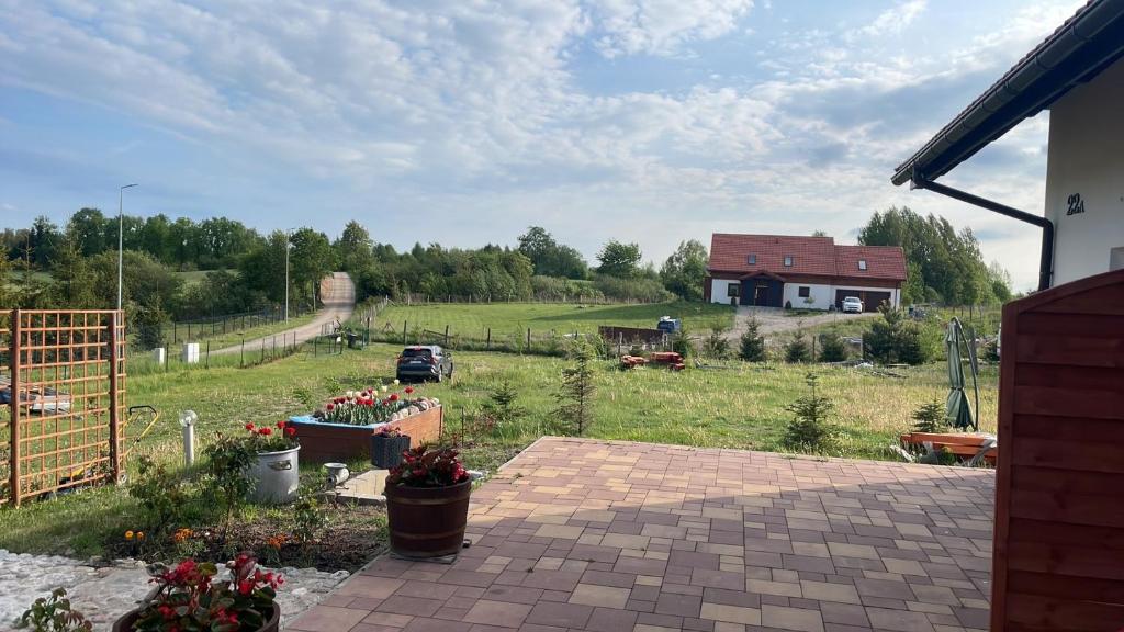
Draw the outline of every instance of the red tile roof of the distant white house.
M756 256L752 264L751 254ZM791 267L785 265L786 256L792 258ZM865 270L859 269L860 260L865 260ZM708 270L905 281L906 258L898 246L843 246L832 237L715 233Z

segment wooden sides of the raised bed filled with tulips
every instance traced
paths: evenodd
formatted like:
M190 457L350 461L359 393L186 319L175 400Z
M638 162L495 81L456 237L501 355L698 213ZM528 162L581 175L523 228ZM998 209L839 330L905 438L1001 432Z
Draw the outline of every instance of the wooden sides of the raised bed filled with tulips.
M371 435L387 424L353 426L350 424L330 424L315 421L310 415L289 417L297 428L300 441L300 460L308 463L327 463L332 461L365 461L371 460ZM437 406L423 410L417 415L406 417L389 425L397 427L402 434L410 436L410 448L424 443L437 443L444 427L444 407Z

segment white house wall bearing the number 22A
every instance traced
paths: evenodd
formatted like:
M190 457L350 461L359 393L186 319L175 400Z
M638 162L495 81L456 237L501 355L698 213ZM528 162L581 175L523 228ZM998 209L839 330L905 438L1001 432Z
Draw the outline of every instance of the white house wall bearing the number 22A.
M1055 229L1054 285L1124 265L1122 112L1124 60L1050 109L1045 216Z

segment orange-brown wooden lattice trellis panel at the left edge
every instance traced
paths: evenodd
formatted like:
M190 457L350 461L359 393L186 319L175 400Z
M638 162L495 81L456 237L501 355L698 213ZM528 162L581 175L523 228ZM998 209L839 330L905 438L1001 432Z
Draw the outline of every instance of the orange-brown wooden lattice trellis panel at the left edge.
M2 312L0 354L0 504L117 481L123 313Z

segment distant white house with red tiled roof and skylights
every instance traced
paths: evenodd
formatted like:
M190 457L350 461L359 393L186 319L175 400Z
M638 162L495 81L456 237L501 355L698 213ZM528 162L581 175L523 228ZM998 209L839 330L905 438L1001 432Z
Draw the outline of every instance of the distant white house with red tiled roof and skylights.
M703 294L710 303L828 309L844 297L868 312L901 303L905 253L897 246L843 246L832 237L737 235L710 237Z

